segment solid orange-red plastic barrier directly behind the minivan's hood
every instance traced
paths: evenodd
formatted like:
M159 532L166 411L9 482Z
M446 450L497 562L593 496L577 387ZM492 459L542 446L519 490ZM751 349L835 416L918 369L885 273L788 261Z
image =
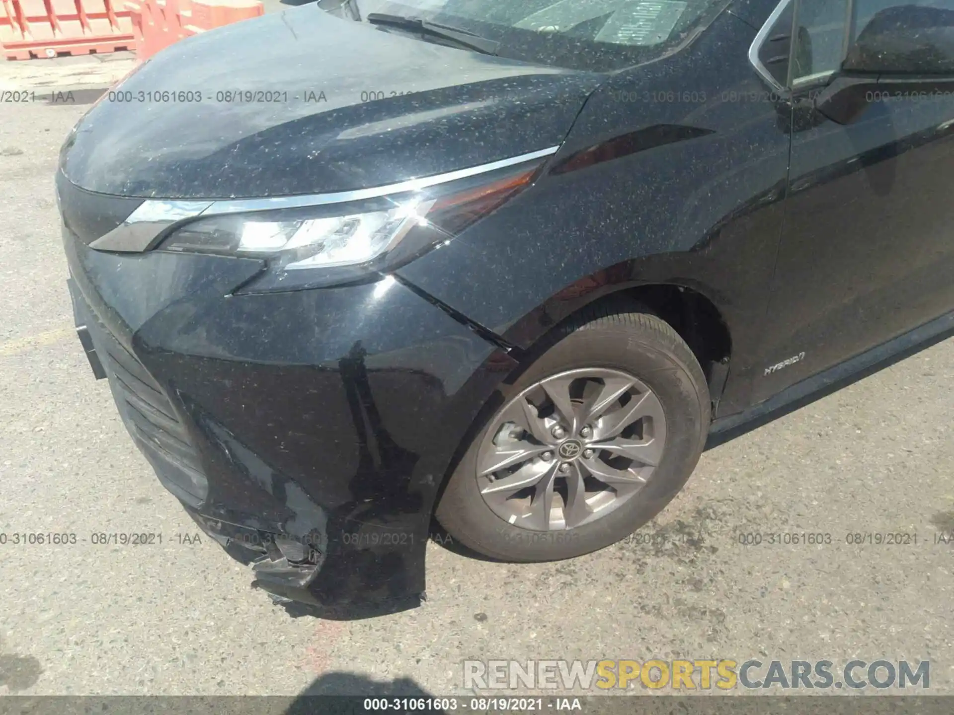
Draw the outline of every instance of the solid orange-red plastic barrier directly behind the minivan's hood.
M265 14L260 0L126 0L126 8L140 60L189 35Z

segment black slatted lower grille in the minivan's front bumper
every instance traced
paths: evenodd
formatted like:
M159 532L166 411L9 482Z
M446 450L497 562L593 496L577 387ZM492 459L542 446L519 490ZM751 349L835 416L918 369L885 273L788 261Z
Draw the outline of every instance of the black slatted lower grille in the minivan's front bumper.
M75 289L73 289L75 290ZM198 506L208 494L198 451L176 410L142 362L93 314L75 301L78 325L85 324L102 360L119 414L159 480L180 500ZM84 319L85 318L85 319ZM81 322L82 320L82 322Z

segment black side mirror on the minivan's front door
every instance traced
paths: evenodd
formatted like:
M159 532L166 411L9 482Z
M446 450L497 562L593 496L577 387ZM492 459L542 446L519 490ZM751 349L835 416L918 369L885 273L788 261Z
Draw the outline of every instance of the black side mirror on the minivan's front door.
M815 108L851 124L875 102L954 92L954 10L915 5L876 13L848 48Z

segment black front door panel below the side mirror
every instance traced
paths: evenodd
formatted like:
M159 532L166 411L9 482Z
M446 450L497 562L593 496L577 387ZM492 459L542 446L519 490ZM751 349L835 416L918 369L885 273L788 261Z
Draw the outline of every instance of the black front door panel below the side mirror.
M954 97L874 101L840 125L808 109L815 92L800 97L811 120L793 135L757 399L954 310Z

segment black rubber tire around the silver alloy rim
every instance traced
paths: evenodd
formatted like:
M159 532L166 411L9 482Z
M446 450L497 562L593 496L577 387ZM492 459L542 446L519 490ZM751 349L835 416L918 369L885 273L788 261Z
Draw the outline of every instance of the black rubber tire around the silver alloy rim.
M635 308L640 310L640 306ZM633 304L604 305L601 308L588 309L578 317L571 318L568 323L557 326L542 345L533 351L536 358L528 359L529 367L521 368L524 370L523 374L512 384L501 388L503 407L487 420L487 424L467 447L447 481L444 494L438 503L436 517L451 537L484 556L507 562L570 559L604 548L629 536L652 520L682 489L695 469L708 435L711 419L709 389L692 350L674 329L649 312L632 311ZM485 500L482 489L487 485L487 481L479 480L492 477L478 477L478 460L482 454L482 445L487 445L485 450L500 449L496 445L497 438L490 438L489 433L498 424L498 420L503 419L501 416L508 409L508 404L516 404L515 400L521 399L526 391L538 389L535 385L541 380L551 379L551 376L562 378L569 371L583 369L611 377L615 373L610 371L622 371L653 392L664 415L663 419L659 420L664 425L665 435L661 457L656 460L657 463L645 483L641 487L635 487L637 491L633 496L627 498L628 501L623 500L605 516L591 517L594 521L583 521L577 526L570 525L568 516L563 526L557 529L552 526L542 530L524 528L513 523L513 517L510 520L504 518L506 514L501 510L510 508L511 502L504 505L495 502L495 508L500 512L498 513ZM570 378L578 374L580 373L572 373ZM605 380L597 378L591 389L602 389L601 385L605 384ZM625 402L623 406L625 407ZM530 439L525 430L518 430L517 434L524 439ZM486 441L488 438L494 439L494 443ZM598 449L596 451L600 455L607 454ZM496 454L498 453L493 453L494 459ZM563 451L558 450L557 455L555 458L551 456L550 460L560 460ZM545 458L546 455L542 455L540 459ZM539 462L537 465L547 467ZM583 467L580 469L581 474L588 474ZM633 487L627 485L626 488L632 490ZM590 494L587 489L589 487L583 490L585 495ZM600 493L600 499L605 493ZM537 492L534 492L535 494ZM615 495L616 490L606 494ZM535 499L535 496L528 498ZM612 500L616 497L607 496L606 499ZM541 503L546 505L549 502ZM567 497L562 497L559 503L563 506L560 506L557 512L560 509L563 509L565 514L570 511ZM550 515L554 512L542 508L540 511L548 514L548 521L544 523L550 524ZM529 517L522 516L521 519L526 521ZM568 526L570 528L567 528Z

